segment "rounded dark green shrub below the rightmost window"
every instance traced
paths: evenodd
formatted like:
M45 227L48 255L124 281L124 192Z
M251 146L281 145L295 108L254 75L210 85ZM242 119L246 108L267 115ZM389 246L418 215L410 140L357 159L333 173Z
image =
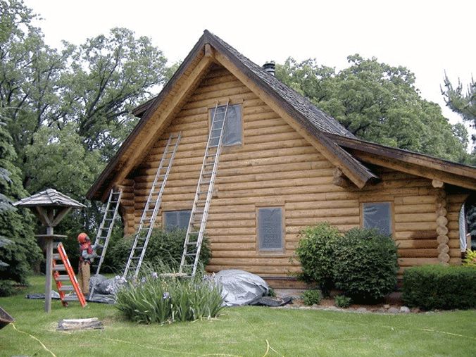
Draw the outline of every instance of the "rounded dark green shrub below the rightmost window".
M334 248L334 259L335 286L354 300L377 301L396 287L396 245L377 230L346 232Z

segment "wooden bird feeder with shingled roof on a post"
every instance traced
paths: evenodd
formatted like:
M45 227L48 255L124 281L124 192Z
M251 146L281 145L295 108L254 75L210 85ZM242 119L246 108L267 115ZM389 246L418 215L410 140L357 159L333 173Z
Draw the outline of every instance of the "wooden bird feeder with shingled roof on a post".
M33 196L13 203L16 207L28 207L46 227L46 234L37 234L36 237L46 241L46 284L44 287L44 311L51 311L51 280L53 264L53 241L55 238L65 238L64 235L54 234L53 228L67 215L71 208L85 208L84 204L56 191L46 189Z

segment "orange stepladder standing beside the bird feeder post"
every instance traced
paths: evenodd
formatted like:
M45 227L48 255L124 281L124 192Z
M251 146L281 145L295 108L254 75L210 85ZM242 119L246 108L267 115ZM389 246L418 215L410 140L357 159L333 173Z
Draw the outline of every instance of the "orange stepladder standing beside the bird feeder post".
M68 306L68 301L80 301L81 306L84 308L84 306L86 306L86 299L84 299L80 286L77 284L75 272L73 271L70 260L66 255L63 243L58 242L57 244L54 244L54 248L58 253L53 252L53 278L56 282L56 287L58 288L61 303L63 306ZM61 261L61 263L58 263L57 261ZM66 274L61 275L59 272L66 272ZM63 282L68 281L71 282L71 285L63 285ZM76 295L65 294L65 292L73 291Z

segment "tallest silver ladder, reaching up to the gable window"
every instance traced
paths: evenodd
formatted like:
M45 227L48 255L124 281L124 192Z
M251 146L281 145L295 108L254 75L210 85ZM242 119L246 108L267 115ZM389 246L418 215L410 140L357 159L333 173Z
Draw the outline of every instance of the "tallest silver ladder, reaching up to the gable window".
M184 250L178 275L193 277L199 263L201 242L203 241L208 209L210 208L213 196L213 186L215 184L218 161L220 160L220 153L223 146L223 132L225 131L225 120L227 118L229 104L230 101L227 101L226 106L218 107L218 103L215 106L210 134L208 134L208 141L206 143L205 156L203 156L199 183L196 186L194 204L187 227L187 235L185 236ZM220 113L218 113L218 111L220 111ZM218 143L216 139L218 139ZM198 223L199 227L197 227Z

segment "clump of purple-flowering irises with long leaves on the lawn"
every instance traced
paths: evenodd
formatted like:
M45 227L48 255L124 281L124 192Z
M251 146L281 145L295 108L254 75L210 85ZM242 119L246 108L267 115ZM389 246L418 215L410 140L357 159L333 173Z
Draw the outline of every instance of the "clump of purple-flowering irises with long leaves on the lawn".
M115 307L128 320L165 323L215 318L223 308L221 289L213 277L162 277L156 269L146 268L137 283L119 289ZM170 271L170 270L169 270Z

